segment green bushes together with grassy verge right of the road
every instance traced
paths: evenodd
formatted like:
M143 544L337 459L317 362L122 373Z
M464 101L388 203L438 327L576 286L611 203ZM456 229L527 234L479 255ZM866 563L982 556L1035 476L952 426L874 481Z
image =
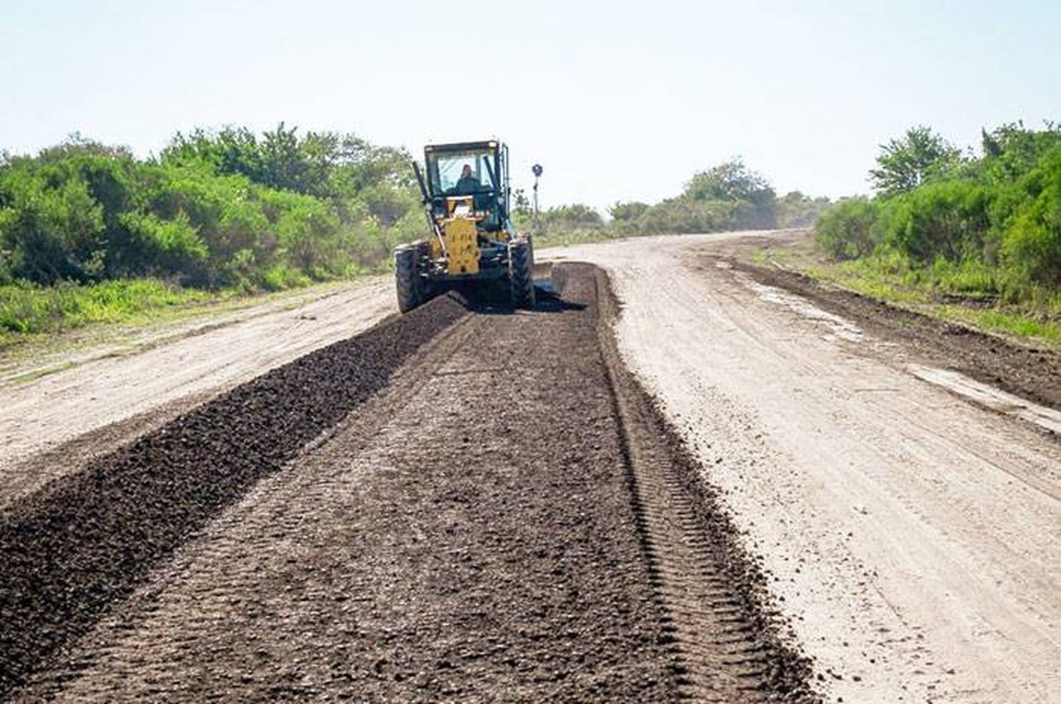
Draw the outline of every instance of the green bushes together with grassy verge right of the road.
M813 275L946 317L1061 340L1061 127L1008 124L962 152L932 129L882 146L875 194L817 221Z

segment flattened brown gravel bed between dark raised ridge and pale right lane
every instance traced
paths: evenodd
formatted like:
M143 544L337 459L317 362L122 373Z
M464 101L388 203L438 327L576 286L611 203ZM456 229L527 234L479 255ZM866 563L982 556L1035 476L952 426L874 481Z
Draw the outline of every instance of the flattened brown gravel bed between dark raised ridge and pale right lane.
M602 275L557 280L456 319L15 698L810 698Z

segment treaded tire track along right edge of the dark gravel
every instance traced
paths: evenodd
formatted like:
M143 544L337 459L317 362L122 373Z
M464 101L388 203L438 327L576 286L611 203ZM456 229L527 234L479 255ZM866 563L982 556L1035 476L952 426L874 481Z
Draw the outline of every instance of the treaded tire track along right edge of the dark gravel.
M623 365L609 324L619 306L601 270L596 283L601 351L653 584L682 662L682 697L816 701L810 661L769 606L762 569L696 460Z

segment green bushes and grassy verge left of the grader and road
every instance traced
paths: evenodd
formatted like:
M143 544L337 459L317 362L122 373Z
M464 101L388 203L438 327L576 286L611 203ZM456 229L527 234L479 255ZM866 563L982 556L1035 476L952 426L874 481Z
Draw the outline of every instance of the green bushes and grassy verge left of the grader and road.
M0 154L0 344L387 267L423 215L402 149L282 123L138 159L74 136Z

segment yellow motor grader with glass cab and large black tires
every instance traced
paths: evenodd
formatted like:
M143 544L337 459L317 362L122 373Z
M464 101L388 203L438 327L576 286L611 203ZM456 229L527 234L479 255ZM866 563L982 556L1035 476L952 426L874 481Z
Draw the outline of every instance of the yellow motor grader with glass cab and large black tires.
M509 217L508 147L499 141L429 144L413 162L431 235L395 249L398 307L412 311L454 286L507 291L533 307L534 247Z

